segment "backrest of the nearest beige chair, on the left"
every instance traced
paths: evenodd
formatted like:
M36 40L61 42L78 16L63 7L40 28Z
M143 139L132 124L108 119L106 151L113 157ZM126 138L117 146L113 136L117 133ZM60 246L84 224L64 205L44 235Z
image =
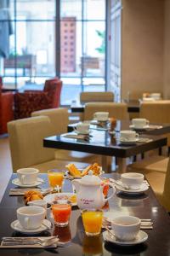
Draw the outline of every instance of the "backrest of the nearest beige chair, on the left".
M43 147L43 138L52 134L52 125L47 116L18 119L8 122L10 152L14 172L54 160L54 149Z

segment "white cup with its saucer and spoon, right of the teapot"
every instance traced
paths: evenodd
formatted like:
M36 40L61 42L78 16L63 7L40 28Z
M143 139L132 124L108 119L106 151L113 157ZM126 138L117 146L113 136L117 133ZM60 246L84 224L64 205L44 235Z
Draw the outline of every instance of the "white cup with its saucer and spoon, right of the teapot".
M113 178L110 178L109 180L111 183L115 184L118 191L127 195L144 194L150 187L150 184L144 180L144 175L137 172L122 173L120 180L115 180Z

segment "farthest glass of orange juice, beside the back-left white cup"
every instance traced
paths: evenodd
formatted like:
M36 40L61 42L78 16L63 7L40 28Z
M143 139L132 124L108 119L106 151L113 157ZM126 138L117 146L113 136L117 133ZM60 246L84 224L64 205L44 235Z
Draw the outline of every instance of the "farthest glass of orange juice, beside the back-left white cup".
M58 192L61 191L63 179L64 179L64 172L56 169L48 170L49 185L54 190L56 189Z

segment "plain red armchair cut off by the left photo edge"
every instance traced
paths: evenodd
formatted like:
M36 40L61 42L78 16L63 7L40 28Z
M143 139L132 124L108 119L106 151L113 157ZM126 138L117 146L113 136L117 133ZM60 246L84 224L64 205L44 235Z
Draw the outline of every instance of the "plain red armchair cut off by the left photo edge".
M3 80L0 77L0 134L7 133L7 123L14 119L14 94L2 92Z

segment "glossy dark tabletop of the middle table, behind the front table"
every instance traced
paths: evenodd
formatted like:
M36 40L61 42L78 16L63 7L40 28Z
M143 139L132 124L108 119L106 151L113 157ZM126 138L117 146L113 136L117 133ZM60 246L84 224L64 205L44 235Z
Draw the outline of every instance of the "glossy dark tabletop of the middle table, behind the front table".
M43 139L43 146L47 148L60 148L88 152L92 154L103 154L127 158L146 151L161 148L167 145L167 137L142 135L141 137L150 138L148 143L133 143L123 145L119 141L120 132L116 132L116 137L110 135L108 131L91 130L88 141L76 138L65 137L65 134Z

